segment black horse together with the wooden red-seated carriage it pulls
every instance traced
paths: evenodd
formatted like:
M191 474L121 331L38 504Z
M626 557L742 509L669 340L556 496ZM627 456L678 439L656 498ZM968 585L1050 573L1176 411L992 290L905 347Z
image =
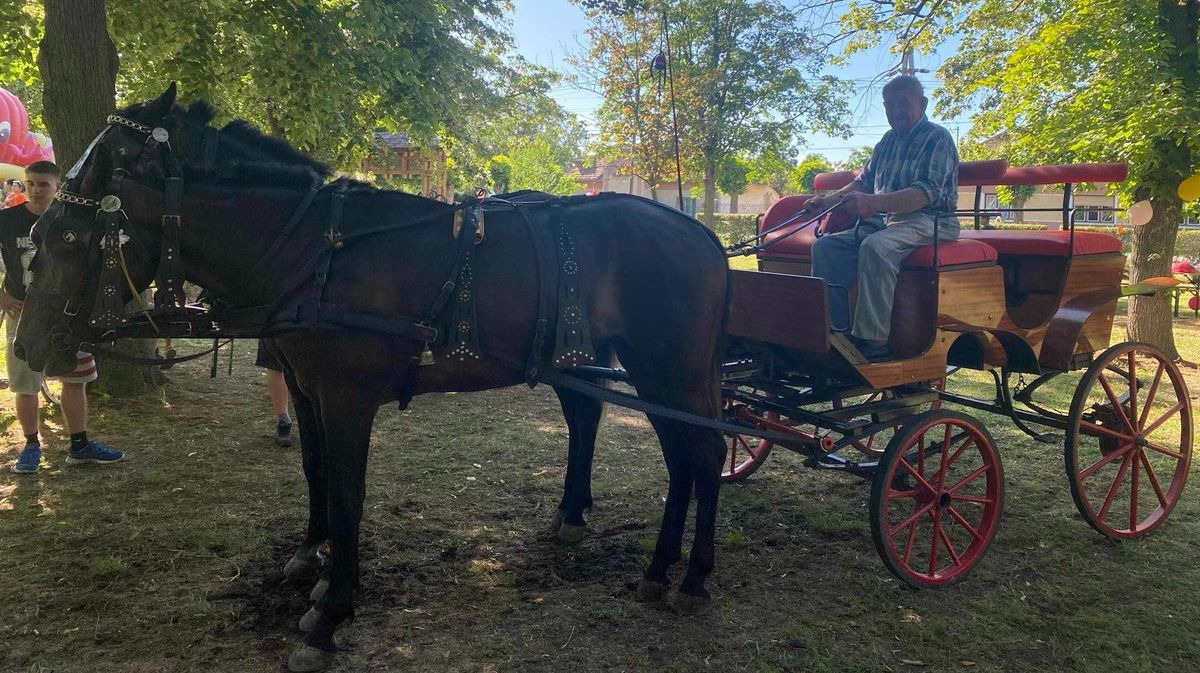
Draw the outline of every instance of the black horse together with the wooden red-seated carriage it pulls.
M762 271L731 276L712 232L647 199L517 193L451 205L326 182L328 167L286 143L212 118L204 103L178 106L174 86L109 118L35 227L14 351L56 374L80 344L103 353L124 336L269 337L310 495L284 572L312 573L318 551L332 549L294 671L328 666L335 630L354 614L376 413L422 392L554 386L570 434L559 539L582 530L592 504L600 401L647 411L671 480L636 595L670 595L680 612L707 603L722 456L736 480L775 444L872 481L875 543L904 581L962 578L995 533L1003 475L986 428L944 402L1064 431L1072 493L1109 536L1147 533L1180 498L1192 411L1178 369L1141 343L1097 355L1117 300L1170 281L1123 288L1120 242L1072 222L1070 185L1123 179L1123 167L966 164L962 185L1066 182L1064 230L977 230L917 250L896 288L896 359L870 362L832 329L830 288L805 275L814 236L850 223L836 211L800 222L804 197L768 214ZM977 224L980 194L965 214ZM227 306L186 306L184 280ZM126 316L151 282L155 307ZM1085 367L1069 410L1033 399ZM943 390L954 368L990 372L995 399ZM628 380L637 396L601 379ZM692 495L692 551L672 594Z

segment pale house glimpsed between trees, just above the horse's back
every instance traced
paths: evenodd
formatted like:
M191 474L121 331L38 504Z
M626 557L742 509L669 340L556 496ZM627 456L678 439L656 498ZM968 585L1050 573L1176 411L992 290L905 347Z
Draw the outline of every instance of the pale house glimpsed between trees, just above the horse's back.
M629 160L596 160L594 163L584 163L582 160L571 162L571 168L568 170L568 176L577 180L582 186L580 187L578 194L599 194L600 192L618 192L622 194L636 194L640 197L653 198L650 192L650 186L646 180L637 178L636 175L624 174L624 168L629 166ZM701 199L694 198L691 196L692 188L696 184L692 181L684 181L683 184L683 211L689 215L696 215L701 208ZM679 190L676 186L674 180L659 186L658 193L659 203L665 203L673 208L679 208ZM732 209L732 198L730 194L722 194L718 192L716 194L716 212L766 212L770 204L775 203L780 197L769 185L748 185L746 191L738 196L737 209Z

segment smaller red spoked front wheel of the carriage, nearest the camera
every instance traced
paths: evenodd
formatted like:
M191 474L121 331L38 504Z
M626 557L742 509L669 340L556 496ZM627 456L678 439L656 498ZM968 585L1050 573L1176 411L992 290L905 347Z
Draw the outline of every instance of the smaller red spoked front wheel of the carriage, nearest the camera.
M871 539L916 588L946 587L983 558L1003 499L1000 453L979 421L925 411L888 441L871 485Z

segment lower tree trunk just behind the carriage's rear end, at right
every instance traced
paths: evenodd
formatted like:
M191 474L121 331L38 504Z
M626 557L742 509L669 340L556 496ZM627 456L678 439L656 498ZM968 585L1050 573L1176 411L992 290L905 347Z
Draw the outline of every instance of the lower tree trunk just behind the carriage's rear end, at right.
M1134 198L1141 200L1148 190L1139 188ZM1171 251L1182 220L1183 203L1180 198L1159 194L1154 199L1154 217L1145 227L1134 227L1129 252L1129 282L1136 283L1156 276L1171 275ZM1129 298L1129 338L1145 341L1162 348L1172 359L1175 334L1171 324L1171 304L1165 293L1153 296Z

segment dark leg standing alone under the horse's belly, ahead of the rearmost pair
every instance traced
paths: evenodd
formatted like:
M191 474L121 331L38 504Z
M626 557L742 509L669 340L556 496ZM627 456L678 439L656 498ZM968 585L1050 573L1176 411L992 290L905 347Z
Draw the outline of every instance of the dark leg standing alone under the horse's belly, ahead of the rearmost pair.
M575 545L583 540L587 522L583 510L592 507L592 458L595 456L596 431L604 415L604 403L565 387L556 387L566 417L566 479L552 528L558 541Z

